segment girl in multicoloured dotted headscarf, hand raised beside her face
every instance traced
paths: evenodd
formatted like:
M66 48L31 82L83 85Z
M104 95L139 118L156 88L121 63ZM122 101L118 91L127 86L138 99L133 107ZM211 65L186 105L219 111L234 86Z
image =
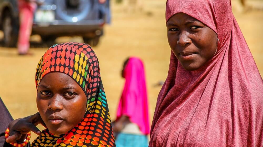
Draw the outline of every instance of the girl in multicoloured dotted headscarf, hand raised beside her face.
M97 56L88 44L49 48L36 70L38 113L13 120L6 142L39 134L31 146L109 146L115 141ZM47 129L40 132L41 123Z

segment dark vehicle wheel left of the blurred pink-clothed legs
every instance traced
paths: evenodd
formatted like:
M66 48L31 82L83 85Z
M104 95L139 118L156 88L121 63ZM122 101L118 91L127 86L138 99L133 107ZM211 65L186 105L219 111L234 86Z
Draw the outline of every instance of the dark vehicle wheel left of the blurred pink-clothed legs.
M16 47L19 23L15 21L9 11L3 13L2 29L4 33L3 45L5 47Z

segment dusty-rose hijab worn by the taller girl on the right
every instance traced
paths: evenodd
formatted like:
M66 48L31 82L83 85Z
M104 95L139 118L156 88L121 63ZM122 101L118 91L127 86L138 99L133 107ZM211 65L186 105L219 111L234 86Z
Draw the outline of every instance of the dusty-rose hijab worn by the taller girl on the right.
M179 12L213 29L220 43L196 71L171 52L149 146L262 146L263 82L230 0L168 0L166 22Z

